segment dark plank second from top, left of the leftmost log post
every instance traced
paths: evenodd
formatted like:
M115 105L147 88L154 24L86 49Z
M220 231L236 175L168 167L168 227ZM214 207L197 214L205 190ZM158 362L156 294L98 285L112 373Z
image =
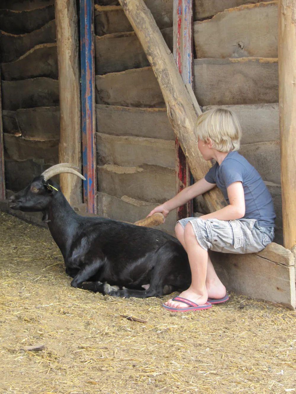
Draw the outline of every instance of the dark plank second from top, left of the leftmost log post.
M0 9L0 30L11 34L31 33L54 19L54 5L26 11Z

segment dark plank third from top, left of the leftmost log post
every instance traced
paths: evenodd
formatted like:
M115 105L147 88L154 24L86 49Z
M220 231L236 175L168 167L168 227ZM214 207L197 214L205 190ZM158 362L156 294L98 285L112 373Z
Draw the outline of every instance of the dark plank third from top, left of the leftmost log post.
M34 46L56 42L56 22L51 20L38 30L26 34L9 34L0 32L1 61L15 61Z

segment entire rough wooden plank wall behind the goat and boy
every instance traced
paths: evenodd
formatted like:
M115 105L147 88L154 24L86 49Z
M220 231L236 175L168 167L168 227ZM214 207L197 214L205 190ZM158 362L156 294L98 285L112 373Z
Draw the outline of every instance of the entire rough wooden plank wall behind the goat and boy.
M99 214L146 216L175 195L174 133L159 85L118 2L95 1ZM242 124L240 153L266 182L282 243L277 2L194 1L194 89L203 110L229 106ZM146 0L172 50L172 0ZM58 162L60 111L54 1L0 4L6 186L23 188ZM202 199L195 212L206 212ZM163 229L173 232L176 213Z

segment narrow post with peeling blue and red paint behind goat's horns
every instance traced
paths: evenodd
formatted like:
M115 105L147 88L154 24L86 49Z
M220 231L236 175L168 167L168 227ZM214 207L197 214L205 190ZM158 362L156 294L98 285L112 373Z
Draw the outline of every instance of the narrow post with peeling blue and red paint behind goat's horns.
M81 110L84 203L97 213L94 0L80 0Z

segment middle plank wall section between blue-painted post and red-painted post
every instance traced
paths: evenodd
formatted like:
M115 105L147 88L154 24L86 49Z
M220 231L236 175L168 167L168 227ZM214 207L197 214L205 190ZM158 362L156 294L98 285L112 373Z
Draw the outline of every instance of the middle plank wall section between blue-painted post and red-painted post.
M172 2L147 0L172 50ZM175 194L175 137L148 59L118 5L95 6L98 213L145 217ZM163 229L173 231L176 212Z

